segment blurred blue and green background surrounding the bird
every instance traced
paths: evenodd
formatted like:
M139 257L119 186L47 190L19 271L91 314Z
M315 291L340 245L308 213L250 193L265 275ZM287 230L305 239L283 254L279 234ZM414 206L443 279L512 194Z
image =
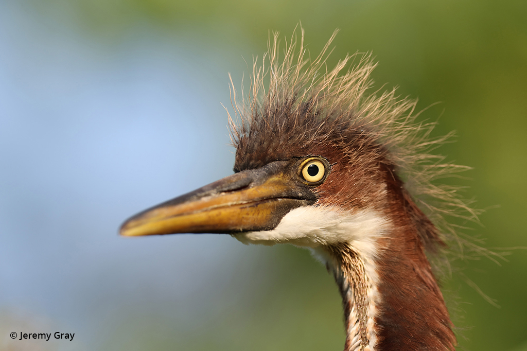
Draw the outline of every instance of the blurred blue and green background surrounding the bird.
M473 167L459 182L488 209L470 235L527 247L525 1L3 0L0 12L4 349L343 347L337 288L305 250L115 235L229 174L227 73L247 82L269 31L289 38L299 22L313 54L340 29L329 65L372 52L376 87L440 102L422 118L457 131L439 152ZM500 307L456 274L443 283L462 349L527 350L527 254L510 251L456 262ZM39 328L77 339L7 338Z

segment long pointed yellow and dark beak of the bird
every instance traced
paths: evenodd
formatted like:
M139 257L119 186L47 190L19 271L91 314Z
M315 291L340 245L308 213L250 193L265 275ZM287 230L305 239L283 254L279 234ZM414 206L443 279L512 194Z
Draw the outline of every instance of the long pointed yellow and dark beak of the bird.
M286 161L232 174L126 220L123 236L235 233L275 228L316 196L285 172Z

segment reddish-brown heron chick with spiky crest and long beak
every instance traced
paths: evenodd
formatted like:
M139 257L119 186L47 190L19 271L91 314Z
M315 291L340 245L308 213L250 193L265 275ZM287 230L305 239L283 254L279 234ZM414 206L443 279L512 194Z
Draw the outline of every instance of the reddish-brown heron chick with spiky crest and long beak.
M234 173L136 214L120 233L307 248L339 288L344 351L454 350L431 262L455 237L446 218L475 211L432 180L465 167L434 153L451 134L432 138L436 122L418 119L417 100L374 90L371 54L328 69L336 34L313 60L303 28L284 50L270 36L241 100L230 79Z

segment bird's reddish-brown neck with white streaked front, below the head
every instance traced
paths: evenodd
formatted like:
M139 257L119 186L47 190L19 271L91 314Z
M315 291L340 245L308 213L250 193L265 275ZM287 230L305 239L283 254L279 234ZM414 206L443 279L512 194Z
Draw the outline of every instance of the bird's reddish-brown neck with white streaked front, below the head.
M423 245L406 229L377 239L376 257L361 256L353 242L325 248L343 299L344 351L454 350L452 323Z

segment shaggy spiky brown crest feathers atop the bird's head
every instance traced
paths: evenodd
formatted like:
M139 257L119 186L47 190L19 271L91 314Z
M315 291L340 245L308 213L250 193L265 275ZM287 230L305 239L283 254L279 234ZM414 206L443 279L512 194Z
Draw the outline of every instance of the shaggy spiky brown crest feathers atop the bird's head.
M372 187L364 185L383 178L381 172L401 177L419 208L440 228L432 226L421 233L428 251L436 251L436 244L442 246L446 239L457 242L458 255L469 251L493 255L458 237L446 220L452 216L477 221L479 211L460 198L458 188L432 183L469 169L431 153L453 133L430 138L435 123L417 121L417 100L401 99L395 89L372 91L376 63L370 55L347 55L328 70L326 60L336 34L310 61L303 30L299 42L294 34L286 44L284 58L279 57L275 33L261 65L257 60L253 64L250 93L238 102L232 86L235 115L229 115L229 126L236 147L234 171L320 154L325 145L349 161L345 167L354 168L356 188L365 189L362 196L357 194L357 201L371 203L367 193Z

